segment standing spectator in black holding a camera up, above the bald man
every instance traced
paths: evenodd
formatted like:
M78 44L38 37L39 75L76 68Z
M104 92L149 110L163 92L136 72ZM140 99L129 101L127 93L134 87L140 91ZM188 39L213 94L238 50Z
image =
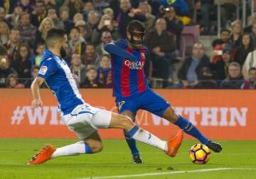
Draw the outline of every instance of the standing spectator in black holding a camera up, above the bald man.
M176 36L176 47L179 49L183 23L176 16L174 7L164 8L164 18L167 22L167 30Z

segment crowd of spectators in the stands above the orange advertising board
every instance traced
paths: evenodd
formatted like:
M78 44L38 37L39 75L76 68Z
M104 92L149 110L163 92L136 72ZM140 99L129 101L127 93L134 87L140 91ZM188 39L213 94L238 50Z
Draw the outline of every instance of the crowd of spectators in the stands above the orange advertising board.
M239 1L221 1L222 30L213 55L195 42L179 57L183 29L198 25L201 35L216 34L214 0L2 0L0 1L0 88L29 88L39 71L46 33L68 33L62 57L80 88L111 88L111 57L105 44L126 37L129 21L146 27L149 48L145 74L163 88L256 88L256 13L242 27ZM46 85L43 85L46 87ZM153 86L154 87L154 86Z

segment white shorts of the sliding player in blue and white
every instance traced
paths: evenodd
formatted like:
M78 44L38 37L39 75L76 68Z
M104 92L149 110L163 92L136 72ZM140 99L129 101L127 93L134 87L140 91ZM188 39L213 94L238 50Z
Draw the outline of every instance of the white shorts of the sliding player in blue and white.
M98 128L108 128L112 112L94 108L88 104L78 105L70 114L62 117L68 129L75 132L79 139L89 137Z

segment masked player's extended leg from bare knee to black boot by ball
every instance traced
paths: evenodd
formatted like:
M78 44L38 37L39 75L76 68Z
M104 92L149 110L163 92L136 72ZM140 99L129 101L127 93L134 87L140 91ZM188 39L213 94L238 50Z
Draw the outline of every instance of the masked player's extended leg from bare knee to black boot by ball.
M174 112L173 108L167 108L164 112L163 117L166 120L174 123L174 125L177 125L181 129L183 129L183 132L186 132L187 134L198 139L202 144L206 144L206 146L208 146L213 151L220 152L222 150L222 146L220 146L220 144L218 144L217 142L212 142L210 141L210 139L203 136L203 134L196 128L196 126L183 118L181 115L177 115L176 112Z

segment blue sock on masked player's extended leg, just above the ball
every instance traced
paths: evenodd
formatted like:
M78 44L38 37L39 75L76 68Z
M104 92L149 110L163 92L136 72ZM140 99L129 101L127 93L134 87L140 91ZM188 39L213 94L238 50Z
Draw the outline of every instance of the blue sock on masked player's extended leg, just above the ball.
M186 132L187 134L196 137L202 144L207 144L209 142L209 139L203 136L201 132L194 126L191 122L184 119L181 115L178 115L178 120L174 122L174 125L180 127L183 129L183 132Z

